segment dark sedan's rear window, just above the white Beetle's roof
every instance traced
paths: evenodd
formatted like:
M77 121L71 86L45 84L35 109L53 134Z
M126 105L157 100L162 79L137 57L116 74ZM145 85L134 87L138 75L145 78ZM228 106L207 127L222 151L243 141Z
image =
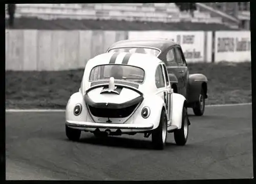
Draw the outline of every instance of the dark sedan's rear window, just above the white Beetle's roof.
M134 47L127 47L127 48L116 48L116 49L111 49L109 53L112 52L127 52L127 53L141 53L141 54L151 54L153 56L158 56L160 53L159 50L157 49L151 49L151 48L134 48Z

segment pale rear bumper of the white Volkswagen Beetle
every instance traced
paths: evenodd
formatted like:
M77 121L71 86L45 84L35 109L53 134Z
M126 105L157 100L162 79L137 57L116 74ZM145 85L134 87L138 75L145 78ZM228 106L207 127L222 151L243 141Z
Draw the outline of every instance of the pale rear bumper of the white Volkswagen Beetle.
M92 123L92 122L77 122L67 121L66 125L77 128L103 128L103 129L120 129L120 130L150 130L154 127L153 124L117 124L117 123Z

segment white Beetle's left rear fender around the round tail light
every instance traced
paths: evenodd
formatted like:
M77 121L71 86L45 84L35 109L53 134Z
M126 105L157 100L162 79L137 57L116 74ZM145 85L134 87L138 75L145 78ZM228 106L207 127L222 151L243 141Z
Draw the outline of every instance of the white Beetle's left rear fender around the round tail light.
M82 112L79 116L75 116L74 107L76 104L80 103L82 105ZM66 106L66 121L87 121L93 122L91 117L89 116L88 109L86 103L83 100L83 96L80 92L74 93L71 95L67 106Z

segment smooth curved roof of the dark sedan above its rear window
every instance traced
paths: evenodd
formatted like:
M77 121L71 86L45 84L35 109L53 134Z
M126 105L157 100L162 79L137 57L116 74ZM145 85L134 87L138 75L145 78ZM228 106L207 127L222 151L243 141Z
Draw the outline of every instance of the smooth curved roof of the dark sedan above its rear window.
M168 39L141 39L141 40L132 40L126 39L115 42L111 45L109 49L118 48L118 47L152 47L157 48L161 51L167 49L172 45L176 45L177 43Z

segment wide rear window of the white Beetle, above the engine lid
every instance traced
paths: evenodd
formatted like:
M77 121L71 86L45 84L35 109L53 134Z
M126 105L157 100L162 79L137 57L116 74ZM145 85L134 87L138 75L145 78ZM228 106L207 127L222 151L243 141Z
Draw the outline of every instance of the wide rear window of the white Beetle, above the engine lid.
M110 77L142 83L144 80L144 70L139 67L129 65L99 65L92 69L89 81L109 79Z

